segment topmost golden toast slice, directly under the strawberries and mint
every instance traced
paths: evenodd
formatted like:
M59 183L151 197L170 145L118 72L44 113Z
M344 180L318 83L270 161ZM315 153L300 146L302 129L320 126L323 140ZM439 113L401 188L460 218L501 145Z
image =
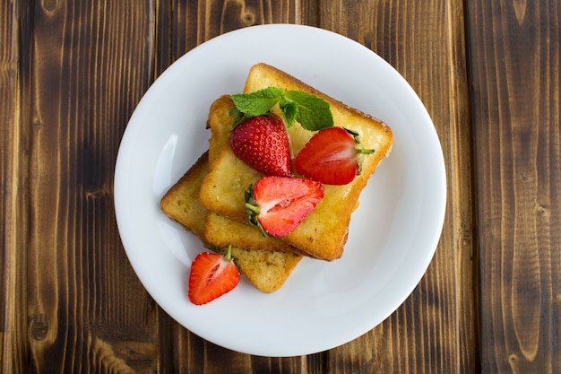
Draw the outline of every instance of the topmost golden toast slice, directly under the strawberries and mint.
M337 259L342 256L348 237L350 214L358 202L358 196L366 187L367 180L374 173L376 166L391 151L392 130L384 122L332 99L271 65L252 66L244 92L258 91L270 86L305 91L323 98L330 104L334 126L344 126L357 132L361 144L365 148L375 150L364 158L362 172L352 182L344 186L325 185L324 199L306 216L296 230L280 238L311 257L328 261ZM279 114L278 105L272 111ZM314 135L298 124L291 126L288 132L292 152L295 155ZM234 155L227 142L203 180L199 196L201 204L211 212L238 222L246 222L244 192L261 177L262 174Z

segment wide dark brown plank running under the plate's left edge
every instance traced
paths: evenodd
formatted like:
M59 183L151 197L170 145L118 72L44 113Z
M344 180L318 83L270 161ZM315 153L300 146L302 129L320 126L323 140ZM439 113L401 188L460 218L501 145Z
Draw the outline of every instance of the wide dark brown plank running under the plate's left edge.
M25 371L158 371L157 308L125 257L112 192L154 74L154 4L33 4Z

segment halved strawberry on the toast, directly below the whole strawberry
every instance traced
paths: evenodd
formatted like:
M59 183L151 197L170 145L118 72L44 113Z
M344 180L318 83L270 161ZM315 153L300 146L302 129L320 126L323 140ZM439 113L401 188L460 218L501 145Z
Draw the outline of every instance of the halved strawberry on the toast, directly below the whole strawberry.
M263 177L246 191L249 222L263 234L283 237L295 230L324 197L324 186L315 180Z

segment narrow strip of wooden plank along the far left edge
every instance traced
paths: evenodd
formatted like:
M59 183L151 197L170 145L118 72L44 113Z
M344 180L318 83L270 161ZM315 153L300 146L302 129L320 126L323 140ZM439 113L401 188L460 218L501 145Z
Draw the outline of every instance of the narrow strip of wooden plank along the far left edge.
M27 77L21 66L28 63L19 53L29 37L22 24L24 4L0 4L0 372L24 372L26 342L26 231L28 132L22 128L26 98L22 87Z

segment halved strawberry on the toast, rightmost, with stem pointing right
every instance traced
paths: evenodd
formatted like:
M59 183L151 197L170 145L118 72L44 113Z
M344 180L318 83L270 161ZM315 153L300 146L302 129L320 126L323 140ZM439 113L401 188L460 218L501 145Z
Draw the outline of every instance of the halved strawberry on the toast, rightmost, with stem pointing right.
M357 133L329 127L312 136L296 156L294 167L306 178L327 185L346 185L360 174L361 156L372 152L360 146Z

